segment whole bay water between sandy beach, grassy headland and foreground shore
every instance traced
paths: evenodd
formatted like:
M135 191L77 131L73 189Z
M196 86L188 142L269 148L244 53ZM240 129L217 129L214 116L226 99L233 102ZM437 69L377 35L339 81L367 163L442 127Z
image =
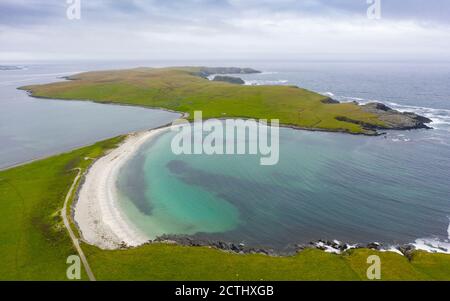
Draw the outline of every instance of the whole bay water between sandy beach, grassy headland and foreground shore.
M181 155L174 133L143 146L118 181L152 238L184 234L285 249L318 239L386 244L448 238L450 156L433 131L362 137L281 129L280 161Z

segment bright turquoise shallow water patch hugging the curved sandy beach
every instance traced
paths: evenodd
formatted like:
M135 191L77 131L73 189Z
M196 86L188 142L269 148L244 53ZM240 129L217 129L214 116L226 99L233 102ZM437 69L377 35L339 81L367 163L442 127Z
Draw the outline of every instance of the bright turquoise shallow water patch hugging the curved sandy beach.
M171 139L169 132L148 143L122 171L119 188L126 212L153 238L234 229L239 220L235 206L173 176L170 168L176 161L170 151Z

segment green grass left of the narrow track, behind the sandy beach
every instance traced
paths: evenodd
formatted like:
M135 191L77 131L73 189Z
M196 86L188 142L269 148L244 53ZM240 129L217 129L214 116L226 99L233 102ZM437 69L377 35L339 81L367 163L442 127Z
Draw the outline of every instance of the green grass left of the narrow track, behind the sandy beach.
M120 139L0 172L0 279L63 280L75 254L60 216L78 171Z

